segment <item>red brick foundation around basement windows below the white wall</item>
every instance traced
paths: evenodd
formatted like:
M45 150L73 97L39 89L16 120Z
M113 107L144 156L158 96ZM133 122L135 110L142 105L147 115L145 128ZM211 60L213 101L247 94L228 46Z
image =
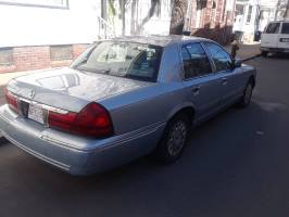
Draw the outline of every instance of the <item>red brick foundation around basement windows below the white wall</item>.
M81 54L88 44L73 44L72 56L75 60ZM20 71L33 71L48 67L67 66L73 60L51 61L50 47L15 47L13 48L13 64L0 65L0 73L12 73Z

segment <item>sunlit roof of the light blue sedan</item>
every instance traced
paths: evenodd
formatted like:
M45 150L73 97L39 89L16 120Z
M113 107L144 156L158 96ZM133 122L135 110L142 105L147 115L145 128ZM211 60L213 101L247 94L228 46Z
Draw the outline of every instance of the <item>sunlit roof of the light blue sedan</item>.
M183 41L211 41L205 38L193 37L193 36L183 36L183 35L169 35L169 36L125 36L117 37L112 40L116 41L130 41L138 43L149 43L153 46L166 47L173 43L180 43Z

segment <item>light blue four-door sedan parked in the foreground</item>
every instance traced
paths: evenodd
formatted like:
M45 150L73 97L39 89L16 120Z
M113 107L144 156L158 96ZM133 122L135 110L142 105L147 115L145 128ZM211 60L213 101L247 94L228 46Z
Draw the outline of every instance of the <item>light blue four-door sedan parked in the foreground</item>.
M71 67L12 79L0 132L73 175L154 152L183 153L190 128L228 105L250 103L256 71L216 42L187 36L100 41Z

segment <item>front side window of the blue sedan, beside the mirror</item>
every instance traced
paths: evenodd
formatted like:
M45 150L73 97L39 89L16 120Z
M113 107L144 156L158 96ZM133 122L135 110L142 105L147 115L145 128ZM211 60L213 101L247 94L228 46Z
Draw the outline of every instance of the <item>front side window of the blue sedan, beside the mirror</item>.
M211 53L217 72L231 69L231 58L223 48L211 42L206 42L205 46Z

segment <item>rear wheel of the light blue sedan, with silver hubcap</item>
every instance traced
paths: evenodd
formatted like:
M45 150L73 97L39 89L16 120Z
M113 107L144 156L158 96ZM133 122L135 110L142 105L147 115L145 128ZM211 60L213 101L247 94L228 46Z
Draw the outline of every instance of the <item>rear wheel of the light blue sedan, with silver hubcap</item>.
M187 115L179 114L168 122L155 149L155 156L161 163L174 163L181 156L190 130L189 119Z

